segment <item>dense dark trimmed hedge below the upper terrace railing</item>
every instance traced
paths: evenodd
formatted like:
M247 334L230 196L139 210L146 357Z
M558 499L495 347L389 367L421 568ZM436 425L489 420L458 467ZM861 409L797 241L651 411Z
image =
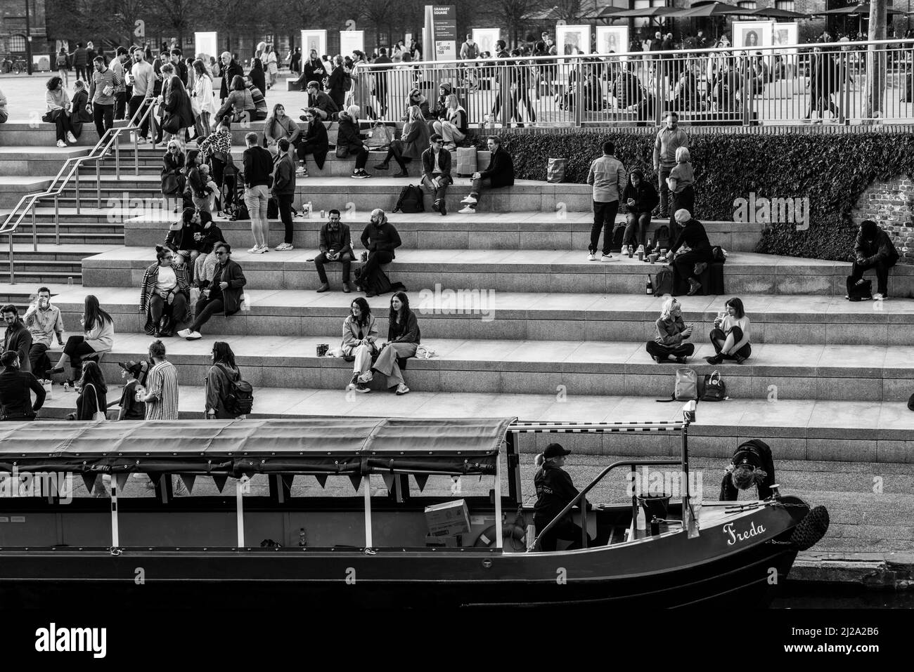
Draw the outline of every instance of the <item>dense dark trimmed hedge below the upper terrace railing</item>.
M686 132L689 129L685 128ZM484 135L473 140L484 149ZM500 131L515 177L545 180L548 158L568 158L566 181L587 181L590 162L612 141L626 170L641 167L654 184L656 130ZM738 198L809 198L809 228L772 224L757 251L834 261L853 258L851 211L874 181L914 173L914 133L690 133L698 219L733 221Z

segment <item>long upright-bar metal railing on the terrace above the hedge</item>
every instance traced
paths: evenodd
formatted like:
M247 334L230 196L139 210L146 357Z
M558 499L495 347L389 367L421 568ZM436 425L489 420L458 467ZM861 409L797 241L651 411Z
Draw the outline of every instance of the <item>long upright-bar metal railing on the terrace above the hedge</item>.
M750 49L712 48L611 55L449 60L356 68L352 100L363 116L401 121L409 91L434 110L452 86L470 125L659 124L680 121L797 124L825 111L833 121L914 121L914 42L877 40ZM867 61L873 67L867 72ZM867 78L881 77L867 105Z

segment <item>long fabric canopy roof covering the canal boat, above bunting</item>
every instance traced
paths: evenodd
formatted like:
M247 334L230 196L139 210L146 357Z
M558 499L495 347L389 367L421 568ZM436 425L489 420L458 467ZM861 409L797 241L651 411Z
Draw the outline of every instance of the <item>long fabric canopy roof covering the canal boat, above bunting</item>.
M509 418L0 424L0 471L494 475Z

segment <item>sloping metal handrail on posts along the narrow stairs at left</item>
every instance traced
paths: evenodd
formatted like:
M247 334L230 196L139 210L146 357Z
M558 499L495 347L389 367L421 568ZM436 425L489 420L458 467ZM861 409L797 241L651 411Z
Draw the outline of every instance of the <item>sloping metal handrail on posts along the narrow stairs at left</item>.
M95 162L95 198L96 207L101 208L101 161L104 160L108 153L114 149L114 173L116 176L121 174L121 133L140 131L143 122L149 121L149 131L155 137L155 117L152 114L154 103L143 104L133 115L133 118L127 122L126 126L118 126L108 129L104 135L99 138L92 150L85 156L71 157L60 167L57 176L51 181L50 186L37 194L26 194L19 199L13 211L6 216L6 220L0 226L0 235L9 236L9 282L11 285L16 284L16 268L14 262L15 249L13 247L13 237L16 229L22 224L28 213L31 213L32 219L32 248L38 250L38 231L35 208L37 202L43 198L54 197L54 232L55 245L60 245L60 194L69 186L70 179L74 180L76 195L76 213L80 214L80 166L90 161ZM139 117L139 121L136 118ZM140 174L140 152L139 152L139 133L133 135L133 174Z

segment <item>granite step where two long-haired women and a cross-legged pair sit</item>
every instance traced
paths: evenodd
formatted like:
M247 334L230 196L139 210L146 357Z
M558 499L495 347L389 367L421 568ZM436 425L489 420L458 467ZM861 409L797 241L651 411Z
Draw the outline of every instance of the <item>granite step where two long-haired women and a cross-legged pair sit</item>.
M348 381L346 362L315 356L320 343L339 343L339 329L324 336L217 335L231 319L211 320L202 341L168 341L169 358L186 368L186 380L198 381L205 375L213 341L229 341L252 384L334 389ZM424 320L420 327L421 323ZM145 356L149 341L144 333L118 334L102 365L108 380L117 380L116 362ZM431 339L424 344L437 356L410 360L407 374L409 385L423 392L666 398L677 368L654 362L643 341ZM742 365L725 362L717 367L702 359L713 354L711 345L699 340L689 365L699 375L720 370L735 399L907 402L914 390L912 346L761 343ZM914 415L909 418L914 422Z

